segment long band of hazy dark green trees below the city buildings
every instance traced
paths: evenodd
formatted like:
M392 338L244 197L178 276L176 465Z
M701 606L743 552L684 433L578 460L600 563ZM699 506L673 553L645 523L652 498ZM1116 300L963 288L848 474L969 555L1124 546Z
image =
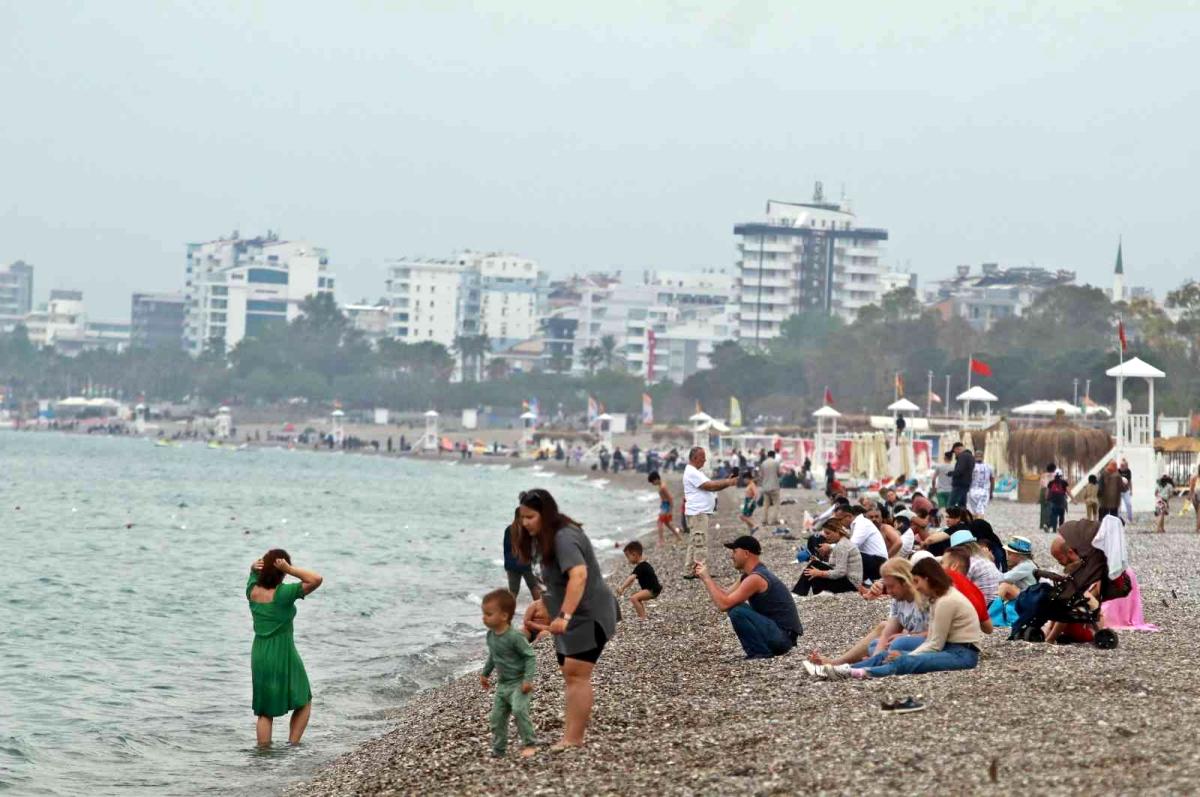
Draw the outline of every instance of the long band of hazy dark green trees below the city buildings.
M992 377L978 379L1001 406L1034 398L1073 397L1091 379L1091 397L1111 406L1114 382L1104 371L1117 361L1117 320L1138 355L1166 372L1156 386L1162 412L1186 414L1200 403L1200 283L1187 282L1166 298L1170 314L1151 300L1112 302L1086 286L1056 286L1042 293L1019 318L978 332L962 318L923 306L911 288L895 290L853 323L820 312L793 316L782 334L760 348L727 341L712 354L713 367L684 384L647 386L624 371L617 342L608 337L578 352L583 376L570 376L565 358L545 371L508 373L488 359L485 336L463 336L452 347L383 340L372 347L331 296L310 296L301 314L241 341L228 354L222 344L198 358L173 349L84 352L64 356L38 349L25 330L0 336L0 386L12 407L34 398L91 391L124 400L272 405L302 398L340 401L348 408L457 411L494 407L515 411L536 397L544 415L559 408L581 415L588 396L611 412L640 414L642 394L654 400L656 420L683 420L698 402L725 415L737 396L746 419L804 424L828 388L844 412L882 412L900 374L905 395L925 407L928 373L944 401L966 386L968 358L986 361ZM452 379L456 371L461 379ZM1136 391L1140 388L1133 385ZM1138 401L1139 398L1134 398ZM935 405L935 412L937 405Z

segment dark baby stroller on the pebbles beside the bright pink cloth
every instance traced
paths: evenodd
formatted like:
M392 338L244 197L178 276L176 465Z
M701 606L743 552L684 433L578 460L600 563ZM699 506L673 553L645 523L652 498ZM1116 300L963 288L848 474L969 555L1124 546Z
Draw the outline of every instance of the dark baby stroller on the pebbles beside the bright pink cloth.
M1038 579L1049 579L1052 583L1037 583L1016 598L1018 619L1009 640L1044 642L1042 627L1045 623L1078 623L1092 630L1096 647L1111 649L1117 646L1116 633L1100 628L1100 604L1128 595L1130 585L1124 573L1116 579L1109 577L1108 557L1092 545L1099 526L1097 521L1076 520L1058 528L1067 545L1079 555L1078 567L1066 575L1037 571ZM1100 589L1093 609L1087 591L1094 583L1099 583Z

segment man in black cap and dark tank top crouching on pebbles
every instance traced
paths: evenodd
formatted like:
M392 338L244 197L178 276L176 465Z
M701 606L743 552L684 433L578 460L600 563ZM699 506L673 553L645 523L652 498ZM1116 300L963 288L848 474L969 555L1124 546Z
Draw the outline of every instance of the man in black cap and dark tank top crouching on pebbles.
M696 576L703 581L713 604L730 616L748 659L769 659L787 653L804 633L792 593L758 559L762 545L757 539L739 537L725 547L730 549L734 569L742 574L738 586L731 591L721 588L702 562L696 564Z

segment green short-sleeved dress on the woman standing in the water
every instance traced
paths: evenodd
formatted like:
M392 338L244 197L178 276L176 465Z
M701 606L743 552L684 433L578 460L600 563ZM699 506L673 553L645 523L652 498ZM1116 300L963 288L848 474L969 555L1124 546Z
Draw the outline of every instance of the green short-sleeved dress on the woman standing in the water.
M254 618L254 646L250 651L254 715L283 717L312 701L308 673L292 636L295 604L304 598L304 585L281 583L271 603L256 604L250 600L250 591L257 583L258 574L251 571L246 600Z

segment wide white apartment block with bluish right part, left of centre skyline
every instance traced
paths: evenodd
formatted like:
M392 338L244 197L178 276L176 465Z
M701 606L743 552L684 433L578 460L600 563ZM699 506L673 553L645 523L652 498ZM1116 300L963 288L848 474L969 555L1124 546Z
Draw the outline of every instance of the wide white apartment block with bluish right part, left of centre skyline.
M389 332L446 347L460 335L485 335L493 350L504 350L538 331L544 287L536 260L516 254L466 250L446 259L389 260Z

